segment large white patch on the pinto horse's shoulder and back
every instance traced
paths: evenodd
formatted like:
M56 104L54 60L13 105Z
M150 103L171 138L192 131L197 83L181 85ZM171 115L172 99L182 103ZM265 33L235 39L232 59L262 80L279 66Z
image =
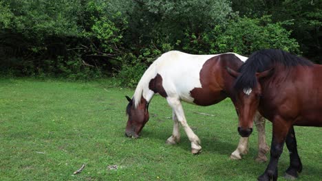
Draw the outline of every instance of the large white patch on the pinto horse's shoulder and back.
M190 90L201 87L200 70L204 62L214 56L216 55L191 55L180 51L162 54L154 63L167 95L193 102Z

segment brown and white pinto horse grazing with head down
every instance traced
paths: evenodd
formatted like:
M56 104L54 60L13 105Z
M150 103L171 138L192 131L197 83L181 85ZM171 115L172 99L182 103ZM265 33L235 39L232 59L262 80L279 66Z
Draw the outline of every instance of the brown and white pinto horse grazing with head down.
M125 134L138 138L145 123L149 120L149 101L155 93L159 93L167 99L169 106L173 109L173 134L167 139L167 143L175 144L180 141L180 123L191 141L191 152L197 154L202 149L200 139L186 122L181 101L199 106L209 106L217 104L226 97L233 99L231 93L234 78L228 75L225 67L237 70L246 59L236 53L191 55L180 51L169 51L162 54L145 71L133 98L127 97L129 119ZM269 147L266 145L265 120L261 118L258 115L255 119L259 132L257 160L266 161L265 154ZM241 154L247 152L248 138L240 138L237 149L230 157L241 159Z

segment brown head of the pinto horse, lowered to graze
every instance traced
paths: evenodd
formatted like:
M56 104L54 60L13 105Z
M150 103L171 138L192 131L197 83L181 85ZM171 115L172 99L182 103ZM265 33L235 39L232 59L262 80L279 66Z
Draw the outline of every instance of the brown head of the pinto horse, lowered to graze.
M126 96L127 97L127 96ZM149 121L149 103L142 98L140 104L135 107L133 99L127 97L129 104L127 104L127 128L125 135L128 137L138 138L145 123Z

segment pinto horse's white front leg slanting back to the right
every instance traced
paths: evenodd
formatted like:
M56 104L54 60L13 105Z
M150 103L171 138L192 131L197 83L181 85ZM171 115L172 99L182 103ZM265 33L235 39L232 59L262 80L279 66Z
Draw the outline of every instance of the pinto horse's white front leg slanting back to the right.
M186 135L189 138L189 141L191 141L191 153L197 154L200 152L202 147L200 146L200 139L197 135L191 130L188 123L186 123L186 117L184 116L184 110L182 108L182 104L180 99L176 97L167 97L168 104L173 108L175 112L175 116L177 117L178 121L181 123L182 127L184 128L184 131L186 132Z

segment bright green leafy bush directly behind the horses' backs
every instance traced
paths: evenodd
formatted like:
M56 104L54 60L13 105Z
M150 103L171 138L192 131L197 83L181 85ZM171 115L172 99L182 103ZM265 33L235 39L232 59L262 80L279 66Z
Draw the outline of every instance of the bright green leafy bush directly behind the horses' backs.
M195 53L222 53L233 51L250 55L259 49L284 49L299 53L297 41L281 23L272 23L270 16L261 19L247 17L230 20L227 25L216 25L198 38L192 34L184 49ZM195 50L195 51L194 51Z

